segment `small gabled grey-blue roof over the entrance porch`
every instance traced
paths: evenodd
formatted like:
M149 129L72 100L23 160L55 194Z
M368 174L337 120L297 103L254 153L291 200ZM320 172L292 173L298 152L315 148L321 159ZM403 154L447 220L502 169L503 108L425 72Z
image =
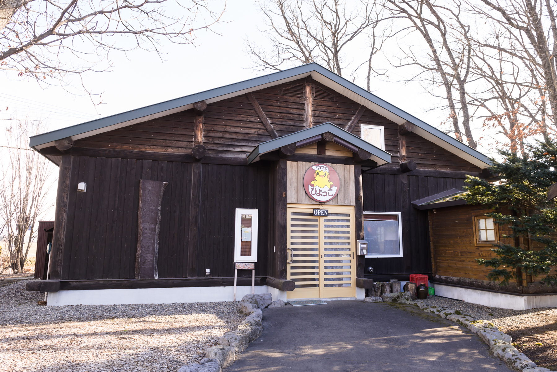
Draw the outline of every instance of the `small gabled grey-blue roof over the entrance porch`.
M372 154L371 160L377 163L377 166L390 163L390 154L382 149L373 146L373 144L364 141L358 136L350 132L346 132L344 129L337 127L331 122L315 125L315 127L303 129L302 131L287 134L286 136L271 139L271 141L263 142L258 144L253 151L247 156L247 163L250 164L257 161L259 157L267 152L275 151L282 146L289 145L291 143L296 143L302 141L302 139L307 139L323 133L333 133L336 137L344 139L344 141L353 144L356 147L362 148L365 151Z

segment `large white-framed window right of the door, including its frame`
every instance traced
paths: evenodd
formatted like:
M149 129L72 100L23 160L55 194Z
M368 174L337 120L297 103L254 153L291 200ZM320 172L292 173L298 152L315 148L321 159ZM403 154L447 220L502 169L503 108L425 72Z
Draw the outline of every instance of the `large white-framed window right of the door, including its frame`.
M400 212L364 212L365 257L402 257L401 216Z

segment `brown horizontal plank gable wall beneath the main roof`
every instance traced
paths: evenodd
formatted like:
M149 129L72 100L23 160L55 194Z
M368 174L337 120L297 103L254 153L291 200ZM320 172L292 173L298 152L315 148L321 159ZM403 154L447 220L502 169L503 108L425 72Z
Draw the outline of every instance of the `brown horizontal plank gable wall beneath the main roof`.
M301 92L296 87L300 88L303 82L296 80L253 92L278 136L305 128L304 97L296 96L295 93ZM318 94L312 100L313 124L330 121L345 129L360 104L316 81L312 84L315 89L322 89L328 94L328 97ZM289 89L293 89L292 87L294 90L287 93ZM193 147L193 120L193 110L186 110L78 139L75 141L75 147L190 154ZM360 136L361 124L381 125L385 128L385 151L393 155L392 163L398 165L398 125L369 109L364 111L352 132L356 136ZM203 141L207 147L207 155L219 156L223 161L228 159L232 163L246 162L247 152L251 152L257 144L272 139L250 101L243 94L208 104L203 125ZM328 146L329 152L342 151L332 144ZM312 149L300 151L311 152ZM418 168L423 169L480 172L480 169L471 163L413 133L407 135L407 158L416 161Z

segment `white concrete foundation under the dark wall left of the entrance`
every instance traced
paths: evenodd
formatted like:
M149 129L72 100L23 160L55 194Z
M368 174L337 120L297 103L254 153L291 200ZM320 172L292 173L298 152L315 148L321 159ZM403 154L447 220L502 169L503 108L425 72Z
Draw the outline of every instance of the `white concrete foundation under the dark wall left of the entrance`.
M272 294L273 301L286 301L286 292L268 286L255 286L255 293ZM251 286L236 287L236 301L251 294ZM234 287L185 287L139 289L86 289L48 292L48 306L128 305L133 303L182 303L233 301Z

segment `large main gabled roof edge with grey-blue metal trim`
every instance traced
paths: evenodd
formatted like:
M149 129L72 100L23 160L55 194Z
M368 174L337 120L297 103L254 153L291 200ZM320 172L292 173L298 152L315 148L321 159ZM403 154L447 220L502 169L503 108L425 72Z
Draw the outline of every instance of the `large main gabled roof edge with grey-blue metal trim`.
M128 125L145 122L147 120L187 110L193 108L194 103L202 100L207 103L213 103L226 98L231 98L233 96L246 94L250 91L267 88L268 86L302 79L309 75L311 75L311 78L319 83L328 86L330 89L345 95L351 100L364 105L370 110L383 115L385 118L388 118L397 124L403 124L407 121L413 123L417 127L414 130L414 133L428 139L428 141L438 144L438 146L447 149L477 167L486 168L491 165L487 156L481 152L466 146L466 144L457 141L455 138L448 136L448 134L439 131L439 129L433 128L431 125L399 109L395 105L386 102L378 96L369 93L367 90L360 88L360 86L351 83L315 62L293 67L292 69L284 71L278 71L277 73L240 81L240 83L229 84L221 86L220 88L210 89L200 93L183 96L181 98L168 100L166 102L111 115L109 117L91 120L90 122L58 129L57 131L38 134L37 136L31 137L29 146L38 150L44 147L53 146L54 141L57 139L71 137L76 140L94 136L95 134L112 131L113 129L123 128Z

